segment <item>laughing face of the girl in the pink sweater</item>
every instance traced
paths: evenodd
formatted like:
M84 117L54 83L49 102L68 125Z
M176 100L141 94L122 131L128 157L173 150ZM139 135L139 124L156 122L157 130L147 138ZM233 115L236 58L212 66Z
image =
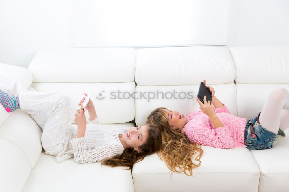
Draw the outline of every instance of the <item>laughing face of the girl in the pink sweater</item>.
M168 109L165 109L164 112L166 114L168 124L172 127L172 129L181 129L186 125L187 117L184 114Z

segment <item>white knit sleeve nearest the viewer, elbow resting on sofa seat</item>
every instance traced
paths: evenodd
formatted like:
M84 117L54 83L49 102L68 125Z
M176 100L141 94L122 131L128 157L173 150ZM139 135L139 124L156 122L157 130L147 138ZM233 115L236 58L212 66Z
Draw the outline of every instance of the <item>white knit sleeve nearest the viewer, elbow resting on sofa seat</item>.
M85 137L71 139L74 151L74 161L76 163L99 162L105 157L113 157L122 153L122 148L118 144L105 144L96 146L93 149L86 149Z

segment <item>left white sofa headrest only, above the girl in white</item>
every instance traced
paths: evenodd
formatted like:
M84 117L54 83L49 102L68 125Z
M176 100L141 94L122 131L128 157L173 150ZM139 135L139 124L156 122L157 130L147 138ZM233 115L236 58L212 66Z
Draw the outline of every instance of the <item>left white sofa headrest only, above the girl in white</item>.
M136 52L129 48L68 48L38 51L28 69L34 83L134 81Z

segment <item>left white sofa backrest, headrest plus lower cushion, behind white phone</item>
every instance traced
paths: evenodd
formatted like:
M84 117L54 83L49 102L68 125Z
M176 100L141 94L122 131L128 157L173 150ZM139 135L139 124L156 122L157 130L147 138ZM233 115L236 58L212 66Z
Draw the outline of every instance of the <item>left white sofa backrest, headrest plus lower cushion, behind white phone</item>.
M71 97L72 123L79 101L89 91L101 123L125 123L134 119L134 99L129 95L135 90L135 58L130 48L43 50L28 69L37 91Z

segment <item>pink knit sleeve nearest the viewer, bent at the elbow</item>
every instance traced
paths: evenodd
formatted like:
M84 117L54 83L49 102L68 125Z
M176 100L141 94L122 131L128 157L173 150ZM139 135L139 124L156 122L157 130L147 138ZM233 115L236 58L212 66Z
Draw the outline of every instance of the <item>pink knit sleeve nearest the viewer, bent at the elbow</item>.
M234 147L235 144L227 126L217 129L197 126L186 130L185 134L191 142L200 145L228 149Z

